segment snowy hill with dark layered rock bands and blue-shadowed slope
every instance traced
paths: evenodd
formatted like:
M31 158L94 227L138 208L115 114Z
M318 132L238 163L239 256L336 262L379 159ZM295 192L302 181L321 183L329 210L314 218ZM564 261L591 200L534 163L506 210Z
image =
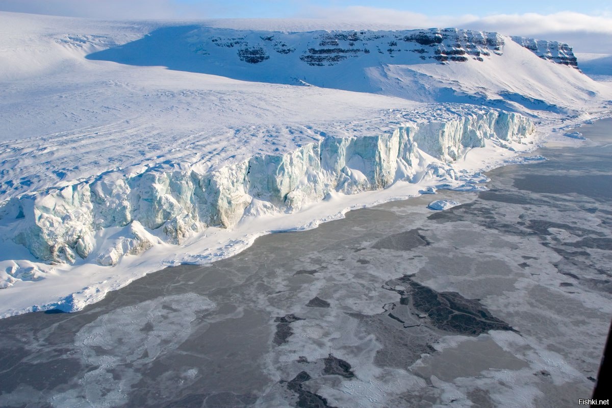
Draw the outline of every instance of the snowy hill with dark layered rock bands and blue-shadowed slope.
M527 69L508 70L504 53ZM592 96L589 78L540 64L536 57L578 67L564 43L460 29L278 32L175 26L88 59L517 111L560 112ZM469 87L483 77L487 80L479 87ZM559 98L561 89L572 96Z

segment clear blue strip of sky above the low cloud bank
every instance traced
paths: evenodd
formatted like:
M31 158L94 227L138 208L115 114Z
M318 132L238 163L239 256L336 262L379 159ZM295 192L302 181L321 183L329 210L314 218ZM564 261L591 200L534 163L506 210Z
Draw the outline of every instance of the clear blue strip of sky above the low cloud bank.
M347 7L395 9L428 16L578 12L586 15L608 15L612 5L602 0L510 0L510 1L363 1L363 0L0 0L0 10L76 17L126 17L140 14L151 17L198 18L290 18L310 17L317 10L341 10Z

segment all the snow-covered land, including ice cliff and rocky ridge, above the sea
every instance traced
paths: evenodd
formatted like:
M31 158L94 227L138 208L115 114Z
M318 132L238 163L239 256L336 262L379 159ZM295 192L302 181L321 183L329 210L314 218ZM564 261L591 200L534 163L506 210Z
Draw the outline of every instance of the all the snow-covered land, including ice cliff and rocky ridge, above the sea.
M481 171L610 116L610 83L579 68L566 44L460 29L2 12L0 316L482 190Z

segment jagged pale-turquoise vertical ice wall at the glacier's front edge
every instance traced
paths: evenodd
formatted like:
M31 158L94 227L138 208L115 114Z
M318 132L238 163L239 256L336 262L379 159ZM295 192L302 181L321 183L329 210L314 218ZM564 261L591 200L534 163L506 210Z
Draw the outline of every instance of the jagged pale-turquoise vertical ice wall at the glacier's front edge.
M110 172L12 198L0 207L0 220L11 224L16 243L43 261L87 258L113 265L162 240L178 244L210 226L232 228L245 213L294 212L331 191L354 194L439 176L432 157L450 162L487 139L518 141L532 132L530 119L488 110L404 124L376 136L327 136L293 152L257 155L211 172L176 163ZM102 231L112 228L119 229L117 237L97 244Z

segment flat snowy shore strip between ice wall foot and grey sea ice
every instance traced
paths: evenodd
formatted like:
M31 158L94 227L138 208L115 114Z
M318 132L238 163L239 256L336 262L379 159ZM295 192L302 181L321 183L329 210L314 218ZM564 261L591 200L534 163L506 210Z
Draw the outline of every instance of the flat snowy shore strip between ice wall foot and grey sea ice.
M577 145L580 141L562 136L562 132L569 127L578 127L591 120L583 119L559 128L554 128L554 124L548 126L540 124L534 135L530 136L530 144L517 144L517 151L512 152L490 144L487 147L470 150L463 158L452 163L453 168L467 171L473 176L500 166L520 163L522 154L528 154L553 139L559 139L570 146ZM519 147L523 147L523 150L518 150ZM74 265L56 265L43 280L18 281L13 286L1 290L0 318L42 310L60 310L68 313L79 311L86 305L99 302L106 293L120 289L149 273L158 272L164 267L211 264L244 251L255 239L263 235L316 228L321 223L345 217L346 212L351 210L409 199L419 196L419 191L436 185L439 185L439 182L435 180L417 184L398 181L383 190L364 191L355 195L334 194L324 201L305 206L297 213L245 217L233 229L209 228L180 246L167 243L155 245L141 255L124 256L114 267L103 267L84 261L76 262ZM446 188L452 189L452 187ZM435 196L431 197L433 201ZM18 247L17 244L13 245ZM23 247L9 248L13 251L18 249L23 253Z

